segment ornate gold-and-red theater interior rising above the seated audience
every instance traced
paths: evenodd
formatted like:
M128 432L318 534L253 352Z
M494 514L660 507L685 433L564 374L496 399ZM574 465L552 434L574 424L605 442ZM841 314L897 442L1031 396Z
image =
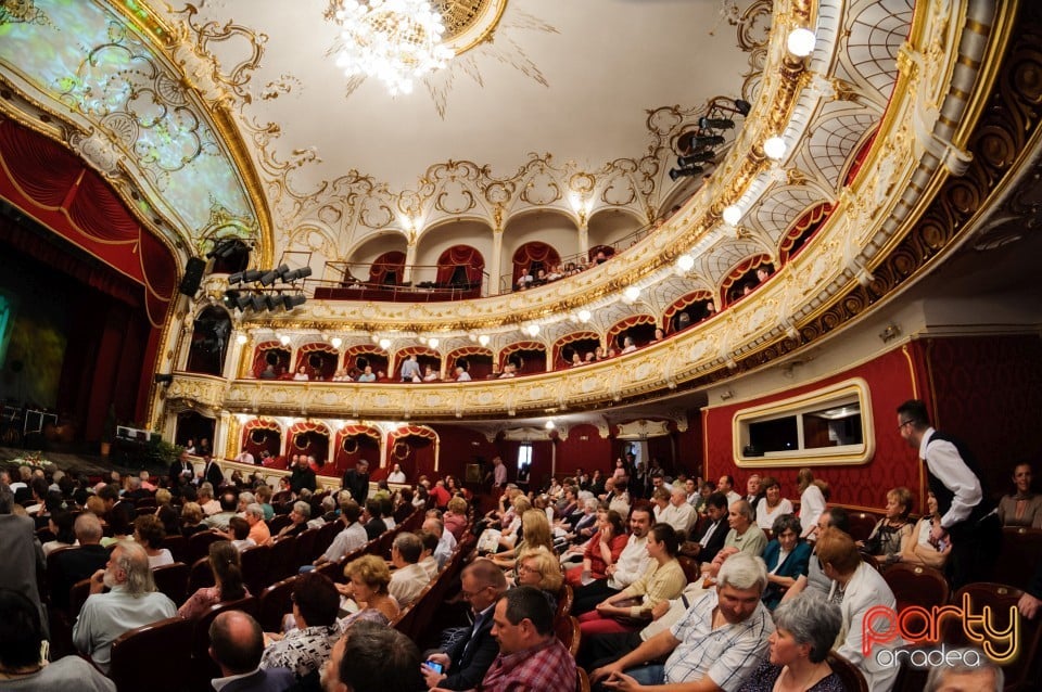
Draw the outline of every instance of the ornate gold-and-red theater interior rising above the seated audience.
M876 514L907 399L995 497L1042 457L1042 5L433 4L408 92L339 0L0 2L0 447Z

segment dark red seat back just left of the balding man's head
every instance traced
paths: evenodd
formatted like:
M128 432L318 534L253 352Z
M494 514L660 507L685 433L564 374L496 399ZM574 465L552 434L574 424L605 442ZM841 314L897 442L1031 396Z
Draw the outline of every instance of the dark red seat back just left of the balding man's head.
M194 623L170 617L124 632L112 643L109 677L118 692L189 689Z

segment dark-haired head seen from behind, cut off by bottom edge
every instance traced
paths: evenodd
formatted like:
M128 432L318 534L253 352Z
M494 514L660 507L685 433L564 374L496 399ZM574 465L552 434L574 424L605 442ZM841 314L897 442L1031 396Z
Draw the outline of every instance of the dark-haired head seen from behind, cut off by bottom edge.
M358 623L333 648L322 671L326 692L416 692L423 689L420 652L402 632Z

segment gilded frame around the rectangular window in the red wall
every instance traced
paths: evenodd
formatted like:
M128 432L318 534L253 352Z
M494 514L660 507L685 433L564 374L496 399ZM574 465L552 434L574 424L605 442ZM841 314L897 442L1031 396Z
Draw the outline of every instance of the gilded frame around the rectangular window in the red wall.
M798 415L808 410L829 406L837 399L849 398L855 395L861 407L862 449L859 451L841 450L839 452L823 452L821 450L799 449L784 456L746 457L744 447L746 430L749 423ZM827 385L819 389L800 394L778 401L762 403L746 409L739 409L732 418L732 451L735 464L739 469L763 469L777 466L806 466L806 465L853 465L865 464L872 461L876 452L875 426L872 415L872 396L868 383L862 377L852 377L842 382ZM827 449L827 448L825 448Z

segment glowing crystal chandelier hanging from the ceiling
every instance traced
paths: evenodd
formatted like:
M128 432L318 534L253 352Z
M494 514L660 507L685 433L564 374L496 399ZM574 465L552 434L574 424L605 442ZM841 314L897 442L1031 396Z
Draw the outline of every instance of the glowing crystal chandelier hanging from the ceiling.
M343 0L336 21L342 27L336 66L348 77L378 77L391 95L411 93L414 79L454 56L442 44L442 15L428 0Z

